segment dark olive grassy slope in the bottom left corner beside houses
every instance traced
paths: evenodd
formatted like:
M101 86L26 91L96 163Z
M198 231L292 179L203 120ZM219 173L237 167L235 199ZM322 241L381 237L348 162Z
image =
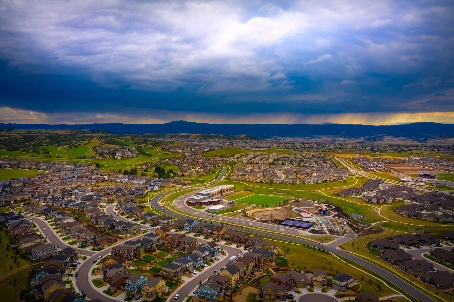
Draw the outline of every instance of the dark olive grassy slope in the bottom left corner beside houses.
M9 251L6 248L9 243L5 230L1 230L0 236L0 292L2 293L0 300L20 301L19 292L25 290L25 283L27 282L31 264L20 257L17 257L15 262L15 254L11 248ZM16 281L14 281L15 279Z

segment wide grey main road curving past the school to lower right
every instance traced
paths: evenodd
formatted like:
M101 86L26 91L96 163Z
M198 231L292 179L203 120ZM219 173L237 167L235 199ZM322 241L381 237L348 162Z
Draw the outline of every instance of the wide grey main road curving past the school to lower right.
M215 183L217 181L222 180L222 177L225 175L225 173L227 173L227 168L224 168L222 170L222 172L220 173L220 175L216 178L216 180L213 180L211 183ZM157 195L153 196L153 198L151 199L151 205L153 205L153 207L155 207L156 209L159 209L159 211L161 211L161 212L163 212L163 213L165 213L165 214L167 214L169 216L176 217L176 218L181 218L181 219L187 219L186 216L178 214L178 213L174 213L172 211L169 211L168 209L165 209L161 205L159 205L158 201L162 197L164 197L165 195L170 194L171 192L174 192L174 191L162 192L160 194L157 194ZM209 220L208 218L204 218L204 219ZM242 219L238 219L238 220L242 220ZM247 220L244 220L244 221L247 221ZM247 221L246 226L248 226L248 222L249 221ZM220 225L221 223L213 221L213 224ZM367 262L367 261L365 261L362 258L358 258L358 257L356 257L354 255L351 255L349 253L346 253L346 252L343 252L341 250L336 249L338 244L336 244L336 245L326 244L326 245L322 246L322 244L312 243L312 242L309 242L309 241L304 240L304 239L296 239L296 238L293 238L293 237L288 237L287 238L285 234L273 234L273 233L268 233L268 232L262 231L262 230L248 229L247 227L245 228L243 225L240 226L240 227L228 225L228 228L229 229L238 230L238 231L242 231L242 232L248 232L250 234L256 234L256 235L259 235L259 236L272 237L272 238L274 238L276 240L286 240L286 241L290 241L290 242L297 242L297 243L301 243L301 244L307 244L307 245L315 246L315 247L318 247L318 248L325 248L326 250L328 250L329 252L331 252L333 254L336 254L337 256L341 256L341 257L344 257L346 259L349 259L350 261L358 263L358 264L364 266L365 268L368 268L371 271L379 274L380 276L382 276L385 279L387 279L389 281L389 283L394 283L397 287L401 288L403 291L407 292L408 294L410 294L412 297L418 299L419 301L422 301L422 302L434 301L432 298L428 297L423 292L420 292L418 289L416 289L415 287L411 286L409 283L407 283L404 280L398 278L394 274L384 270L383 268L380 268L380 267L376 266L375 264ZM347 239L345 239L345 241L347 241Z

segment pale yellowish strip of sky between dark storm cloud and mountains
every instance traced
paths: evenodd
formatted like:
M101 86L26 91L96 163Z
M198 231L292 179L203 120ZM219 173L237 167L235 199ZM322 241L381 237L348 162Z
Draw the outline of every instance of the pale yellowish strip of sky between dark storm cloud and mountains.
M301 114L293 112L223 114L201 112L153 111L119 114L109 112L57 112L44 113L30 110L0 107L1 123L25 124L89 124L113 123L153 124L177 120L207 122L212 124L321 124L324 122L363 125L394 125L412 122L451 123L454 112L419 113L340 113Z

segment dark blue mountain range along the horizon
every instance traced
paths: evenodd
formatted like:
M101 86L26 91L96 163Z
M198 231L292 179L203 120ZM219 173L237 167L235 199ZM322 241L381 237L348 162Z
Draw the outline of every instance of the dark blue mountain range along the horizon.
M81 124L81 125L44 125L44 124L0 124L0 129L70 129L70 130L106 130L118 134L170 134L197 133L237 136L245 134L256 138L271 137L314 137L344 136L370 137L394 136L414 138L424 141L433 137L454 137L454 124L419 122L391 126L351 125L351 124L207 124L175 121L164 124Z

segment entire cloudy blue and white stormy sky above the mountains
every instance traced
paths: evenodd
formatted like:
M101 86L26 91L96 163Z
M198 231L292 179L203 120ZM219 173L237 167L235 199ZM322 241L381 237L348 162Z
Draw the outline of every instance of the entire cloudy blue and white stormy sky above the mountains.
M0 0L0 122L454 122L453 7Z

